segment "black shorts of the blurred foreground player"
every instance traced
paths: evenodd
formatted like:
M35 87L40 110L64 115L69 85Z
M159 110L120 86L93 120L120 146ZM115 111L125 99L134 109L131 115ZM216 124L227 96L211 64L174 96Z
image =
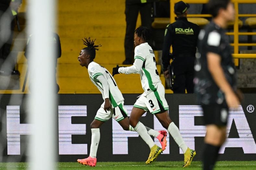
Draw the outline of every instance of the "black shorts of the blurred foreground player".
M205 125L214 124L226 126L228 118L228 107L226 104L202 105Z

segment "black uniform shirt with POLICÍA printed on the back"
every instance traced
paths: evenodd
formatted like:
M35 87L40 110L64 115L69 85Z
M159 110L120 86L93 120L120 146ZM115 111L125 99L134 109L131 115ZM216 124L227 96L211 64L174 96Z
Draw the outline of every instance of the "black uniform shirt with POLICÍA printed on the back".
M176 22L167 26L162 55L164 71L170 64L171 45L173 56L195 56L199 31L199 26L189 22L186 17L177 18Z

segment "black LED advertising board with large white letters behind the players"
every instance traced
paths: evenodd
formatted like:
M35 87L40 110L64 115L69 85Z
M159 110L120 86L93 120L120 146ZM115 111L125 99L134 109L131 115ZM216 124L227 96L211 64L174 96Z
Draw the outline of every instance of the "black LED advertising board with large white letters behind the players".
M131 112L139 94L124 94L125 107ZM27 120L28 95L3 94L1 97L1 140L3 162L27 161L28 136L33 134L33 125ZM185 142L196 150L194 160L201 160L205 127L202 110L193 94L166 94L169 114L180 129ZM103 99L100 94L59 94L56 116L56 154L59 162L75 162L88 157L91 144L90 124ZM245 100L237 110L231 110L227 124L227 140L220 149L219 160L255 160L256 157L256 95L245 94ZM36 114L36 113L34 113ZM161 124L152 114L144 114L141 122L155 130ZM47 123L47 122L45 122ZM6 126L4 126L6 125ZM110 119L100 128L98 161L146 161L149 148L137 132L125 131ZM156 144L159 141L155 138ZM181 161L182 151L170 135L167 147L157 161Z

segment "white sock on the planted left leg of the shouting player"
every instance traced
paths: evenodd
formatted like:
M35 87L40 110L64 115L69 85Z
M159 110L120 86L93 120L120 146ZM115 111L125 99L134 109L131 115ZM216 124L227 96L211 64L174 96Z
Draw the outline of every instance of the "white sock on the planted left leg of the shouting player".
M100 142L101 134L100 128L91 129L91 150L90 156L92 158L96 158L99 142Z

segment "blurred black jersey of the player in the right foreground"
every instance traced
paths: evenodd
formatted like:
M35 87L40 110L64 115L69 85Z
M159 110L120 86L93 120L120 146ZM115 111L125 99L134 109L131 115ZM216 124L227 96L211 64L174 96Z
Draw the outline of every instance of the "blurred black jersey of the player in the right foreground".
M198 50L200 55L196 56L195 71L195 93L198 102L202 105L225 104L223 91L216 85L207 67L207 53L215 53L221 57L221 67L228 83L234 91L237 89L237 74L234 60L231 55L228 36L225 30L214 22L208 24L199 34Z

